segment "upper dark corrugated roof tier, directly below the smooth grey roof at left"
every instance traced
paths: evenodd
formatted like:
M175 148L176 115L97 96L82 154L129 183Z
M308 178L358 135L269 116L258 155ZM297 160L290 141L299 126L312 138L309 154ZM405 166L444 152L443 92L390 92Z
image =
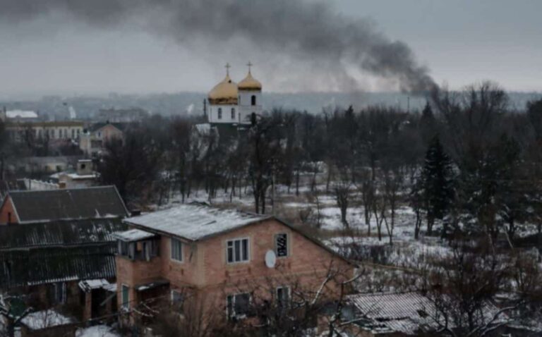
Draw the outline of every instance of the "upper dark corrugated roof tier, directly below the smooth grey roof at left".
M0 250L114 242L121 219L89 219L0 226Z

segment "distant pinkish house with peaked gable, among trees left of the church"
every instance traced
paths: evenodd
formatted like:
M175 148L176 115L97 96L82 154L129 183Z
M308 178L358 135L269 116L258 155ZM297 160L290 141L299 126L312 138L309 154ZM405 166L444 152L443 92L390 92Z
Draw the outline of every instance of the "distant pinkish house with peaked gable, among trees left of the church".
M123 123L96 123L80 137L79 147L87 156L97 156L105 150L106 142L112 139L124 141Z

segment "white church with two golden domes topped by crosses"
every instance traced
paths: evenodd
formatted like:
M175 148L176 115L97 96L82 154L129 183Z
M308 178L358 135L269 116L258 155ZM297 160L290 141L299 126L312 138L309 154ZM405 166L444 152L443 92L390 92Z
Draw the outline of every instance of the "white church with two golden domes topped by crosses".
M226 78L209 92L207 121L210 124L243 125L262 112L262 84L253 78L252 63L248 62L248 74L236 83L229 77L229 64L226 64Z

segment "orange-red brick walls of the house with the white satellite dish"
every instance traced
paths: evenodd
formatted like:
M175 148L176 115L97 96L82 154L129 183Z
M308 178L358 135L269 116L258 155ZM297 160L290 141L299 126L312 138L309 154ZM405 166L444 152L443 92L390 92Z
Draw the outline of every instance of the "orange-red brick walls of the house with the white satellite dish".
M265 266L265 253L275 250L277 233L288 233L289 256L277 258L275 268L268 268ZM249 238L249 262L226 263L227 240L233 238ZM199 243L186 243L183 245L183 262L171 260L170 241L170 238L162 236L160 256L151 262L117 257L119 306L122 283L131 287L130 299L136 300L133 286L166 278L171 289L191 286L201 297L205 295L215 305L225 307L226 294L239 293L243 289L251 291L258 284L276 287L296 283L304 289L316 290L325 279L330 263L344 272L343 278L350 278L354 271L353 266L343 259L275 220L256 223ZM325 295L334 298L336 292L337 285L330 282Z

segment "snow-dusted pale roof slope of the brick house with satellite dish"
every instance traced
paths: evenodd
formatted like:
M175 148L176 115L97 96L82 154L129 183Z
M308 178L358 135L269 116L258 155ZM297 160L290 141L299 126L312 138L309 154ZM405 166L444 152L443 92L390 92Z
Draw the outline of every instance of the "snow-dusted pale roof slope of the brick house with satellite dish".
M183 204L163 211L134 216L125 221L188 240L202 240L271 216L230 209L217 209L205 204Z

